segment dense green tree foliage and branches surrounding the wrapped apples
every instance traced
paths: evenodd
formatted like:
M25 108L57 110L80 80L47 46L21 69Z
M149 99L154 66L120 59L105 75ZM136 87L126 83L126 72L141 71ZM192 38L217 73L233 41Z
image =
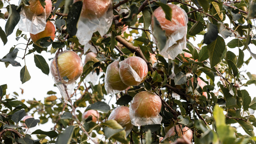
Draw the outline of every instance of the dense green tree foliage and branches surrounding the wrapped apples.
M4 9L3 2L8 3L6 0L0 1L1 9ZM0 13L0 18L8 18L5 28L0 28L0 38L4 44L21 18L22 6L28 2L29 0L21 0L17 6L8 5L7 17ZM188 15L186 49L174 60L159 54L167 38L156 19L154 32L150 28L152 12L160 6L164 9L166 18L172 18L172 10L167 3L179 6ZM40 0L40 4L45 5L44 0ZM94 32L90 41L92 48L85 53L86 46L81 45L76 37L81 4L82 2L73 3L73 0L52 0L52 13L47 20L55 23L54 41L50 37L41 38L34 44L29 35L16 31L16 40L21 37L27 40L23 60L27 55L34 55L35 64L42 70L42 75L50 73L50 66L41 54L42 51L56 53L56 57L64 50L73 50L80 56L94 51L98 60L84 65L82 76L76 81L67 103L63 98L58 99L56 92L52 90L45 95L43 102L36 98L20 101L19 97L9 97L6 94L8 86L1 85L2 144L104 144L116 141L124 144L169 143L167 140L160 140L176 124L192 130L192 142L195 144L255 144L253 130L256 118L253 113L256 110L256 98L251 98L246 86L256 84L256 77L247 72L250 79L246 79L247 76L240 69L250 59L256 58L249 47L249 44L254 47L256 45L255 0L114 0L111 27L104 36L100 32ZM125 10L120 12L120 9ZM128 29L122 33L124 26L128 26ZM152 40L152 34L158 41L157 45ZM199 35L204 38L199 40L200 44L194 45L194 40ZM228 37L232 37L232 40L225 42ZM231 52L231 48L238 55ZM6 67L21 66L21 59L16 59L17 53L21 51L15 46L10 48L10 52L0 59L0 64L5 64ZM244 60L244 51L249 51L251 58ZM118 58L122 61L134 55L142 58L148 66L146 80L118 94L107 95L104 75L108 65ZM85 81L90 72L96 72L97 75L103 73L98 84ZM21 66L20 78L22 83L30 80L26 65ZM205 84L202 86L200 83ZM106 97L116 99L117 105L129 106L135 94L143 90L153 92L161 98L161 124L133 126L126 137L122 126L115 120L108 120L116 105L108 104ZM83 112L78 108L85 107L86 110L98 110L98 122L93 122L92 117L82 120ZM22 120L27 113L39 114L40 120ZM27 131L38 124L44 126L49 120L54 123L51 131ZM241 126L244 131L237 131L234 126ZM32 139L32 135L36 135L38 140ZM169 140L174 142L177 138L174 135ZM187 143L179 139L179 143L182 142Z

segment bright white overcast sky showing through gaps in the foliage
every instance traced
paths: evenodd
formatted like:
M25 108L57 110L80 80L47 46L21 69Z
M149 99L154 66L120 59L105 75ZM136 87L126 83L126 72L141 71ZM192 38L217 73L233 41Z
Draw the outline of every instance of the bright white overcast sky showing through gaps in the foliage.
M16 1L14 2L13 0L11 0L10 3L17 5L17 2ZM4 6L6 6L6 4L4 4ZM6 9L4 8L1 10L2 10L2 13L6 12ZM0 19L0 26L3 30L5 27L5 24L6 24L6 20ZM14 29L14 32L10 36L8 36L8 42L6 45L4 45L0 40L0 58L6 56L10 48L12 48L12 46L16 44L23 43L16 46L16 48L22 48L22 49L26 48L26 43L27 43L26 40L24 40L23 38L20 38L18 41L16 41L15 39L16 38L15 34L17 29L18 29L18 26L16 26L16 28ZM254 30L254 33L255 33L255 30ZM28 38L30 37L28 32L22 32L22 34L27 34L27 37ZM225 39L226 43L232 40L233 38L234 37L226 38ZM197 44L200 43L202 40L203 40L203 36L197 36L196 41L193 41L192 39L190 39L190 42L192 42L195 46L197 46ZM249 47L251 48L252 52L256 53L256 46L250 44ZM32 45L29 46L29 48L32 49ZM8 89L6 91L6 94L10 94L10 97L11 97L12 95L14 95L13 92L17 92L19 94L18 96L19 100L22 100L22 99L32 100L33 98L36 98L36 100L44 101L44 98L49 96L46 93L50 90L53 90L54 92L57 92L56 96L60 98L61 95L58 88L53 86L54 81L52 80L51 74L46 75L42 73L42 71L39 68L36 67L34 63L34 54L29 54L25 58L26 66L30 73L31 79L25 82L24 84L22 84L22 82L20 81L20 70L24 66L24 60L22 60L21 58L24 56L24 53L25 53L25 50L22 50L22 49L19 49L19 52L18 52L18 57L20 58L18 57L16 58L16 61L20 62L21 67L14 67L9 65L8 68L6 68L4 65L4 62L0 62L0 85L7 84ZM50 50L50 47L48 48L48 50ZM233 48L233 49L228 48L228 50L238 55L238 48ZM248 60L248 58L250 58L250 53L247 50L245 50L244 54L245 54L244 61ZM50 54L50 52L45 52L45 51L43 51L39 55L44 56L49 66L50 66L50 61L48 59L53 58L55 56L54 54ZM245 64L241 69L239 69L239 72L245 71L244 75L246 76L246 78L248 78L246 75L246 72L251 72L251 74L256 74L255 64L256 64L256 60L252 58L249 65L247 66ZM217 81L218 81L218 77L216 77L215 79L215 82ZM243 81L243 82L246 83L246 81ZM20 88L24 89L24 94L21 94ZM255 97L255 88L256 88L255 85L250 85L248 87L242 87L241 89L246 89L249 92L250 96L253 98ZM109 98L110 97L108 97L108 100ZM112 100L113 100L113 103L115 103L115 99L113 98ZM52 128L52 126L47 126L47 127L40 126L40 129L42 130L50 130L50 128ZM254 132L256 132L255 128L254 128Z

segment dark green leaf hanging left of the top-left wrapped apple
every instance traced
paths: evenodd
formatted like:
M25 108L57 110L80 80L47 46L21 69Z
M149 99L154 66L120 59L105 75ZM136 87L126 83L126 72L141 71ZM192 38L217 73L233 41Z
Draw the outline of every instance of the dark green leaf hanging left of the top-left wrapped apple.
M5 25L6 36L9 36L10 34L12 34L15 26L20 21L20 12L16 10L17 6L15 6L14 4L11 4L9 5L9 7L10 7L10 14Z

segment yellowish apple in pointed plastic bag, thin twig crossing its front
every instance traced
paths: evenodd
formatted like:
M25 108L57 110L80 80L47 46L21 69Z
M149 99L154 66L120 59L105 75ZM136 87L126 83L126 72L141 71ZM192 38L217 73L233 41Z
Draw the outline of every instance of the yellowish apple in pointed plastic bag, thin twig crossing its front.
M61 76L61 82L67 87L68 95L66 94L65 87L60 82L58 71L56 69L55 58L52 60L50 70L54 83L60 90L65 102L68 102L68 97L72 94L75 87L76 80L82 75L83 64L81 58L71 50L65 50L58 55L58 69ZM65 77L65 78L64 78Z

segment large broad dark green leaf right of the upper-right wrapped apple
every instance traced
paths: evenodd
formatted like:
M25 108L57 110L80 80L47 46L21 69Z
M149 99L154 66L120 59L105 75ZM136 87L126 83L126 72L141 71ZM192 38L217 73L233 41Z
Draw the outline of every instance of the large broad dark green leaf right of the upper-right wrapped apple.
M220 36L218 36L211 44L207 45L211 68L220 62L220 58L225 48L225 41Z

